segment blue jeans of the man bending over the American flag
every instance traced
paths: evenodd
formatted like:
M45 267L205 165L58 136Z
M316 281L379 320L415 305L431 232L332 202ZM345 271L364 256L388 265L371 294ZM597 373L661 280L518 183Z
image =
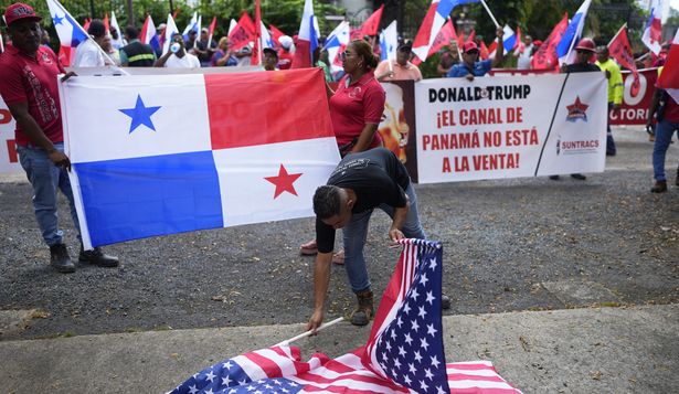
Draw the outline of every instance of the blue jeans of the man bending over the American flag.
M410 198L410 209L405 217L405 223L401 231L407 238L425 239L426 235L420 224L420 215L417 214L417 195L411 183L405 193ZM382 204L378 206L384 211L390 217L394 217L393 206ZM368 268L365 266L365 257L363 256L363 246L368 237L368 222L373 210L357 213L351 216L351 221L342 228L344 241L344 268L351 284L351 290L358 292L370 289L370 278L368 277Z

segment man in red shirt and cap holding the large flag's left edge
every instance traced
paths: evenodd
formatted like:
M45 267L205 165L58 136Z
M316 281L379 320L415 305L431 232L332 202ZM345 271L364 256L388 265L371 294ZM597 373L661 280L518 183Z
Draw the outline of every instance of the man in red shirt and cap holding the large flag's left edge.
M75 265L63 243L56 210L57 191L61 190L71 204L75 227L79 228L67 173L71 161L64 153L56 79L65 71L54 53L40 45L42 18L30 6L8 7L4 20L12 45L0 56L0 95L17 120L17 151L33 187L35 219L50 246L50 264L60 273L73 273ZM98 248L83 251L81 246L78 259L105 267L118 265L117 258Z

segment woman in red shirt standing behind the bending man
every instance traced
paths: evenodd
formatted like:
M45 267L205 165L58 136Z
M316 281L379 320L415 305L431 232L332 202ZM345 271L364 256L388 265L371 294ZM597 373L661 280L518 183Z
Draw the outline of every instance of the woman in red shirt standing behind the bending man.
M337 90L326 86L335 138L340 155L344 157L382 146L382 137L376 131L384 113L386 93L375 79L374 70L379 58L369 43L354 40L340 56L346 75L340 79ZM315 255L316 239L303 244L299 252L303 255ZM335 254L332 262L342 264L343 251Z

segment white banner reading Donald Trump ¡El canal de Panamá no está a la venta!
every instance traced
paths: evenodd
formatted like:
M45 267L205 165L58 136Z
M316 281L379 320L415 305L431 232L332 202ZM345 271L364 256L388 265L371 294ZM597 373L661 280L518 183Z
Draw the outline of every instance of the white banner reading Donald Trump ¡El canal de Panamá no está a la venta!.
M422 81L420 183L602 172L603 73Z

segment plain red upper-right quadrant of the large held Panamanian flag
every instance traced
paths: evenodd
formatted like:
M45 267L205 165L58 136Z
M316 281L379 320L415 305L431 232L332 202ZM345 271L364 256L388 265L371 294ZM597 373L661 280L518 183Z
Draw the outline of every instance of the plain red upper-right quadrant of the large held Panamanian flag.
M335 137L320 68L206 74L212 149Z

